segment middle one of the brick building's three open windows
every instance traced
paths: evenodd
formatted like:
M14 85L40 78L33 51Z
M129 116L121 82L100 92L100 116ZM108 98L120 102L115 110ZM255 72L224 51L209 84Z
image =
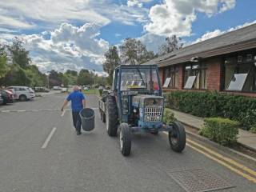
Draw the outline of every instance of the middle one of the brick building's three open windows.
M207 68L205 64L185 66L184 89L207 89Z

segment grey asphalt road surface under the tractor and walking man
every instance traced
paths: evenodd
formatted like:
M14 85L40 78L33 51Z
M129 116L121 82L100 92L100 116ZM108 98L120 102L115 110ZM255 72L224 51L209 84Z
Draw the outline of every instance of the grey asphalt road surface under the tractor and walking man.
M70 110L63 116L59 111L65 97L48 94L0 106L1 192L184 192L171 175L194 169L206 170L235 186L221 191L256 191L254 182L190 146L182 154L174 153L166 134L135 134L132 154L124 158L118 138L107 136L98 117L95 96L87 96L88 106L96 113L95 129L77 136Z

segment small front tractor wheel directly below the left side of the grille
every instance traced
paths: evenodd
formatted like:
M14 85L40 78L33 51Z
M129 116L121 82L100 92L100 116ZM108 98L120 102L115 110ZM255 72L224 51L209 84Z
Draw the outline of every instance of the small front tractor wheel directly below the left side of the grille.
M128 126L127 123L123 122L120 125L119 141L122 155L129 156L131 149L131 133L130 127Z

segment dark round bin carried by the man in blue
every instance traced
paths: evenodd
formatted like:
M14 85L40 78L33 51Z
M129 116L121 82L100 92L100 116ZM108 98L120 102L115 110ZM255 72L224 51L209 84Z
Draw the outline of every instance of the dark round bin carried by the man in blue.
M80 111L82 129L90 131L94 129L94 110L85 108Z

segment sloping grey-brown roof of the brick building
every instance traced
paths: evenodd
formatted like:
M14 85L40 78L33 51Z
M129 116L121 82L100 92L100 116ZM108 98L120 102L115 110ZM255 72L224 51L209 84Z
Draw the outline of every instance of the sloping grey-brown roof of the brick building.
M154 58L144 64L158 64L158 66L174 65L180 62L189 62L190 58L196 56L209 58L251 48L256 48L256 23L203 42L186 46L170 54Z

